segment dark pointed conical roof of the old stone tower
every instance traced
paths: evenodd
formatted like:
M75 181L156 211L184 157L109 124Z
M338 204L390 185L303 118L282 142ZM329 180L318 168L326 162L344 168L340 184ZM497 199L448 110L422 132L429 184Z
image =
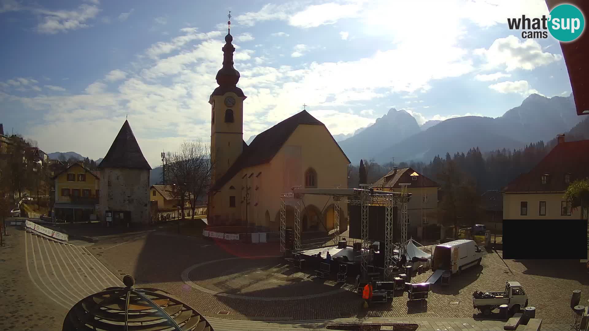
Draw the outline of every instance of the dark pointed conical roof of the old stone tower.
M117 137L114 138L110 150L104 157L98 168L134 168L151 170L151 166L145 160L141 148L131 125L125 120L123 127L118 131Z

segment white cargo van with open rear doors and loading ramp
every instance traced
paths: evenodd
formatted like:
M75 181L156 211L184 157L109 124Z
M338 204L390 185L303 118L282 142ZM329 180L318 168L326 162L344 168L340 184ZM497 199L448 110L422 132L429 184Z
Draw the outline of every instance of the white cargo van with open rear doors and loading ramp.
M432 271L451 270L460 273L463 269L481 264L482 250L474 240L458 239L435 246L432 254Z

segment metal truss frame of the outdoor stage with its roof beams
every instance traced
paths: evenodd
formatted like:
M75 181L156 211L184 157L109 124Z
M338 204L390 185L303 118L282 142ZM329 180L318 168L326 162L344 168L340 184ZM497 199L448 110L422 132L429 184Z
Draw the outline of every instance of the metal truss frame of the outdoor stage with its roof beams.
M359 189L359 188L344 188L344 189L319 189L319 188L307 188L293 189L293 193L282 193L280 194L280 251L284 253L286 251L286 206L290 205L294 207L294 250L300 250L301 246L301 224L300 224L300 201L305 194L319 194L323 196L333 197L333 226L335 228L333 241L337 243L340 239L339 231L339 216L340 216L340 203L349 203L360 206L361 208L361 231L360 236L362 237L362 251L360 260L360 269L362 271L363 278L366 278L368 273L368 262L370 246L373 241L368 239L368 224L369 206L382 206L385 210L385 279L391 277L391 266L394 266L393 256L395 255L394 249L396 247L393 242L393 207L397 206L401 208L401 243L407 241L407 227L408 227L408 215L407 215L407 204L410 193L407 193L406 188L401 193L389 192L389 191L374 191L371 189ZM289 201L290 203L288 203ZM399 245L399 254L406 253L405 244Z

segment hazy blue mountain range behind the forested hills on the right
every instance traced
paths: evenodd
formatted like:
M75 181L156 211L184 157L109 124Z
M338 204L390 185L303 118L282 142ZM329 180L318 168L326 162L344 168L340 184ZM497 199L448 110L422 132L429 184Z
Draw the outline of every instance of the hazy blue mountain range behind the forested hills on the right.
M576 114L572 94L552 98L532 94L501 117L456 117L428 121L421 128L408 112L392 108L361 134L339 145L353 164L370 158L388 163L393 157L399 162L429 161L435 155L473 147L489 151L548 141L583 119Z

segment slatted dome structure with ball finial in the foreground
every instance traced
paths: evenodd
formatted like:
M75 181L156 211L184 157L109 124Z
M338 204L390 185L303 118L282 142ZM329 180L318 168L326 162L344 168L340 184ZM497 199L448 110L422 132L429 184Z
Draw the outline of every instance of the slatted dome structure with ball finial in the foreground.
M108 287L76 303L65 316L62 331L213 331L209 322L186 303L158 289Z

